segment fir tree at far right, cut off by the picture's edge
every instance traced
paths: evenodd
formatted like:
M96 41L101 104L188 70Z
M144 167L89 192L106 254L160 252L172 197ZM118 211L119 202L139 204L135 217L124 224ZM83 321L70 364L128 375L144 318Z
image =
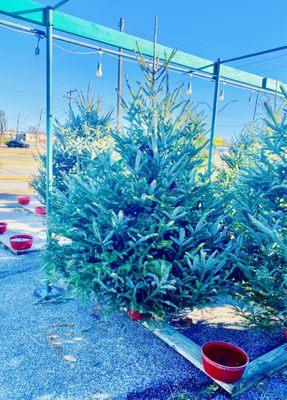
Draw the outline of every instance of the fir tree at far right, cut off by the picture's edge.
M264 326L287 318L286 104L286 93L276 112L265 103L260 148L232 184L233 228L242 242L236 259L243 273L239 293L249 302L250 321Z

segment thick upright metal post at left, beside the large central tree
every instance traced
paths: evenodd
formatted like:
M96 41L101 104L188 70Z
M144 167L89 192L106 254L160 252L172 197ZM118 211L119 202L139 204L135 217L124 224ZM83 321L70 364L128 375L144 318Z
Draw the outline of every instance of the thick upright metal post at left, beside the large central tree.
M53 189L53 13L51 7L45 8L46 22L46 206L47 233L51 237L49 217L52 211Z

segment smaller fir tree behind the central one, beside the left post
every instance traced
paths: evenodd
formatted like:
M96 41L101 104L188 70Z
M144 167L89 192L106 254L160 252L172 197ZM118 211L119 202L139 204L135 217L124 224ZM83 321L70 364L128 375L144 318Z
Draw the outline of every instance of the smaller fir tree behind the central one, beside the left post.
M81 167L84 159L94 157L97 152L111 145L110 127L111 111L102 113L102 101L92 96L90 87L86 95L77 92L69 108L66 123L56 121L54 127L53 176L56 188L64 190L64 176L74 174L75 167ZM33 178L32 187L45 202L45 154L40 154L40 167Z

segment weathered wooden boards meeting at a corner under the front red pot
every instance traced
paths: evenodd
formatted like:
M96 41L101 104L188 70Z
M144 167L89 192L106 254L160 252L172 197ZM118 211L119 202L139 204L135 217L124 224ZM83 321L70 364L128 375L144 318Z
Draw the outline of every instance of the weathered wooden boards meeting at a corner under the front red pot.
M206 374L198 344L167 323L145 321L143 325ZM287 343L251 361L240 381L234 384L214 381L232 397L236 397L285 366L287 366Z

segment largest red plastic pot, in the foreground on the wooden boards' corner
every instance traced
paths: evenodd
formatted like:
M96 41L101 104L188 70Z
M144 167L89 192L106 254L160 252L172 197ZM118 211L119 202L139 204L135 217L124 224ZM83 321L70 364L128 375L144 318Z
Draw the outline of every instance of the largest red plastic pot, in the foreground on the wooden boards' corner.
M201 348L205 372L213 379L225 383L238 381L249 362L248 355L231 343L214 341Z

